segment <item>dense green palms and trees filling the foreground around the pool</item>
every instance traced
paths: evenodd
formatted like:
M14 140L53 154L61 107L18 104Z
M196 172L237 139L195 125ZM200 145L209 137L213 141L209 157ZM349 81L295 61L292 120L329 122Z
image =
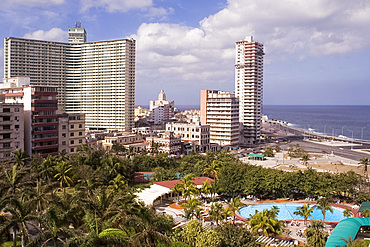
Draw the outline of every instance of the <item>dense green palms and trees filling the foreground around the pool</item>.
M298 147L290 152L302 154ZM256 246L255 233L280 234L281 223L276 220L274 210L259 212L251 218L254 233L227 223L225 219L232 216L235 222L235 212L242 206L238 196L321 196L358 202L370 199L366 179L354 172L330 174L312 169L298 172L265 169L244 164L227 151L192 153L180 159L157 153L155 148L151 153L156 155L135 154L118 144L109 152L83 145L77 154L61 152L43 159L35 155L30 160L17 151L11 162L0 165L0 244L11 242L16 246L18 239L23 246L44 243L54 246L210 246L212 240L212 246ZM209 217L217 225L213 230L199 228L198 220L184 230L173 230L171 217L156 214L153 208L136 201L134 193L143 187L134 184L137 171L154 171L155 181L173 179L180 174L182 183L172 191L181 193L187 200L183 206L188 219L200 219L201 202L195 198L200 193L209 201L214 200L216 193L222 194L230 203L212 204ZM205 182L203 188L198 189L193 178L205 175L215 181ZM327 208L323 203L318 204ZM309 217L305 210L298 211ZM312 236L323 234L312 229Z

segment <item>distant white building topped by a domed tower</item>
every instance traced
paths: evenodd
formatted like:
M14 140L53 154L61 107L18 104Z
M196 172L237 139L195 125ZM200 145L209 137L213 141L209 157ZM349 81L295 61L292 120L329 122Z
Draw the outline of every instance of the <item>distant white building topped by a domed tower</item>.
M173 100L166 100L166 94L161 90L158 100L150 101L150 111L154 124L164 124L174 117L175 103Z

